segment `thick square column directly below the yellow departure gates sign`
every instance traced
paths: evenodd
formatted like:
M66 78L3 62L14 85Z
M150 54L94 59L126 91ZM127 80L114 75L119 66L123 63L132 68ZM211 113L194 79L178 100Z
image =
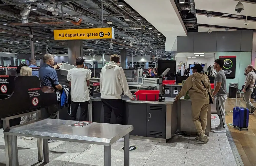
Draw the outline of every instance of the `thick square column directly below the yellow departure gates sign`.
M76 65L76 58L83 58L83 41L70 40L68 42L68 64Z

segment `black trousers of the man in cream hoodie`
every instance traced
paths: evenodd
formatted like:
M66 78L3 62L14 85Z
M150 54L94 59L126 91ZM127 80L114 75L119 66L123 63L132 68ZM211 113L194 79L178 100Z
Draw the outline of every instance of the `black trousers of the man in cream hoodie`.
M124 123L124 104L122 99L101 99L104 109L104 123L110 123L112 110L116 116L115 124Z

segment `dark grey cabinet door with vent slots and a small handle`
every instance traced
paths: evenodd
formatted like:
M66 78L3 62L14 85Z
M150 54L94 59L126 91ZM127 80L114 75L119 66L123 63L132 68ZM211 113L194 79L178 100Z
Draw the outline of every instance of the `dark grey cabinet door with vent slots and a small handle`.
M147 104L147 136L165 138L165 105Z

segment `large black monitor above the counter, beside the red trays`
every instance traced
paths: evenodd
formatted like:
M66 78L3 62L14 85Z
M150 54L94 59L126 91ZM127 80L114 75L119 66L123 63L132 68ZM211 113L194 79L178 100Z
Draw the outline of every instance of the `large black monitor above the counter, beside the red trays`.
M170 68L166 76L171 77L176 74L176 61L158 60L157 61L157 76L161 76L165 69Z

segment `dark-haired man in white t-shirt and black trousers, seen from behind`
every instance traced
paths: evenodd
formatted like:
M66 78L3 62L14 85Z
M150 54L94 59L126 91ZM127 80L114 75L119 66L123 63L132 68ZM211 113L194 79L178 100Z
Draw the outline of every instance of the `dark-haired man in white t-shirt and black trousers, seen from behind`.
M68 71L67 80L71 87L71 120L75 121L77 117L77 109L80 104L81 113L79 121L86 121L88 113L88 104L90 100L88 86L90 85L90 71L83 68L84 60L81 57L76 58L77 67Z

